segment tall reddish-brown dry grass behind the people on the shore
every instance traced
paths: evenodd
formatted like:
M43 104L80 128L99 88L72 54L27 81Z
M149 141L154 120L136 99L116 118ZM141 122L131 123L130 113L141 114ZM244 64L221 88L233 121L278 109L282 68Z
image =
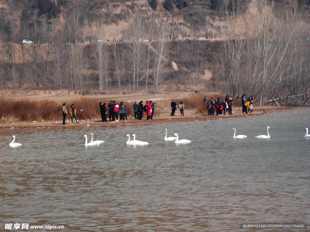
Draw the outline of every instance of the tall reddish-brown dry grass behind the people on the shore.
M179 104L180 101L183 101L187 109L192 110L194 114L206 114L206 105L203 104L204 97L207 96L207 99L211 97L217 98L220 97L221 100L223 97L217 95L203 95L203 94L192 94L188 98L179 98L175 96L175 100ZM158 114L160 110L165 108L170 109L170 103L172 99L165 99L157 101L155 105ZM74 104L77 110L78 120L93 120L101 118L100 115L100 100L98 99L88 99L80 98L72 102L66 102L67 107L67 117L69 118L69 109L71 104ZM108 108L109 101L106 101L106 107ZM119 104L119 102L117 102ZM144 102L145 104L145 102ZM234 101L234 106L239 107L241 101ZM126 105L126 114L128 117L134 117L134 112L132 102L125 102ZM81 111L82 110L82 111ZM108 109L107 109L108 110ZM146 117L146 112L144 112L144 117ZM62 120L62 104L59 104L56 101L36 101L36 100L7 100L0 99L0 123L12 123L12 122L41 122L42 120L50 121L61 121Z

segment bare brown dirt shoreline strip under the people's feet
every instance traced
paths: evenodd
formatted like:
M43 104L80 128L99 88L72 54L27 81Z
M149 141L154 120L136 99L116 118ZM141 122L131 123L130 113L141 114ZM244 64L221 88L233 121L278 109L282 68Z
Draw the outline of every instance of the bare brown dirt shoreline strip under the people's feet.
M236 107L237 109L238 107ZM234 114L223 114L222 116L209 116L207 114L189 114L184 117L179 115L170 116L170 111L161 111L162 115L160 115L160 119L153 119L151 121L146 120L144 118L142 121L136 120L135 118L129 118L126 121L118 121L118 122L101 122L100 119L92 119L92 120L79 120L79 123L73 121L66 120L66 125L62 124L61 121L43 121L43 122L14 122L14 123L3 123L0 124L0 128L2 129L10 129L10 128L46 128L46 127L87 127L88 126L97 126L97 127L111 127L111 126L122 126L122 125L138 125L138 124L153 124L153 123L166 123L166 122L194 122L194 121L207 121L207 120L216 120L220 118L240 118L240 117L252 117L255 115L262 115L266 113L271 113L279 110L296 110L299 107L279 107L279 106L257 106L253 110L252 114L244 114L242 112L235 112ZM178 111L176 111L177 113ZM188 112L188 111L187 111ZM179 112L178 112L179 113Z

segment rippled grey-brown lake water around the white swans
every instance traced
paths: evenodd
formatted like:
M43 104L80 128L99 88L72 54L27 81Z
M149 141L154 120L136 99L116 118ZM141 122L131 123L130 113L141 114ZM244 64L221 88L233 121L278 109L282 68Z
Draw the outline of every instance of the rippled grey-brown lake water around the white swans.
M200 122L1 129L0 230L6 223L60 231L310 223L309 122L308 107ZM255 138L267 126L271 138ZM233 139L233 127L248 137ZM193 142L164 142L165 128ZM104 144L85 148L83 135L91 132ZM127 133L150 144L128 146ZM13 134L21 147L9 147Z

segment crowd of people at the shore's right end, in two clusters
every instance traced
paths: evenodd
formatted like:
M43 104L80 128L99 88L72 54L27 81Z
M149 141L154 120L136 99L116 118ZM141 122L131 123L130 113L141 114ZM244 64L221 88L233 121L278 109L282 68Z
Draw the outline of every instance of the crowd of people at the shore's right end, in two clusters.
M228 114L232 113L232 107L233 107L233 99L231 96L226 95L226 98L221 102L221 98L218 97L217 99L214 99L211 97L210 100L207 100L207 97L203 99L203 103L206 104L206 108L208 110L208 115L225 115L225 112L228 112ZM248 114L248 112L252 113L253 110L253 101L252 97L249 97L246 100L246 95L243 94L241 98L242 103L242 113Z

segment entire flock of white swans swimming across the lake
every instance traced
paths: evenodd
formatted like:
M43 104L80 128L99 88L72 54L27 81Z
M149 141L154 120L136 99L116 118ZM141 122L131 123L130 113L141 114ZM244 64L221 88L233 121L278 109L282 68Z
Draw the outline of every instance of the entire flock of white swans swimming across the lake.
M270 138L270 135L269 135L269 131L268 129L271 129L270 127L267 127L267 135L258 135L258 136L255 136L255 138L260 138L260 139L268 139ZM234 134L233 134L233 138L234 139L243 139L243 138L246 138L247 136L246 135L237 135L236 136L236 128L232 128L232 130L235 130ZM166 131L166 135L165 135L165 138L164 140L165 141L174 141L175 140L175 143L176 144L187 144L187 143L190 143L192 142L191 140L179 140L179 136L177 133L175 133L173 136L176 136L176 137L168 137L167 138L167 128L164 130ZM306 135L304 135L303 137L310 137L310 135L308 135L308 128L304 129L304 131L307 131ZM102 144L104 143L104 141L102 140L96 140L96 141L93 141L93 138L94 138L94 135L93 133L90 133L89 135L91 135L91 142L90 143L87 143L87 135L84 135L83 137L86 137L86 141L85 141L85 146L93 146L93 145L99 145L99 144ZM143 142L143 141L139 141L139 140L135 140L135 134L131 135L134 137L134 140L130 140L130 135L127 134L126 137L128 137L128 141L126 142L126 144L132 144L132 145L147 145L149 144L148 142ZM19 144L19 143L14 143L15 141L15 135L12 136L14 139L13 141L9 144L10 147L18 147L22 144Z

